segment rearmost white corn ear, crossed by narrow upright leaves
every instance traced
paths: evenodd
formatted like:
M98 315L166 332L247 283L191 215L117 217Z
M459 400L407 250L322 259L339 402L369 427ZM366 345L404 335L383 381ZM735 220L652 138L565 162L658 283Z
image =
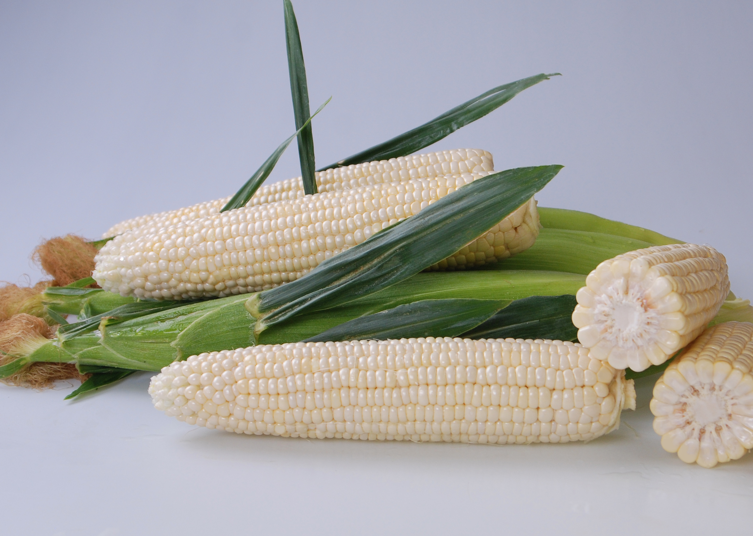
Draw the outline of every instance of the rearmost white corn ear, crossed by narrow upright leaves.
M391 158L375 162L361 163L323 172L316 172L316 185L319 192L331 192L344 188L355 188L383 182L404 182L411 178L432 178L441 175L490 172L494 169L492 154L483 149L455 149L436 153L413 154L407 157ZM300 177L266 184L259 187L246 206L263 205L286 199L300 199L304 195ZM102 238L119 235L127 230L149 225L160 228L181 221L191 221L220 212L230 201L230 196L199 203L185 209L160 212L121 221L108 229Z

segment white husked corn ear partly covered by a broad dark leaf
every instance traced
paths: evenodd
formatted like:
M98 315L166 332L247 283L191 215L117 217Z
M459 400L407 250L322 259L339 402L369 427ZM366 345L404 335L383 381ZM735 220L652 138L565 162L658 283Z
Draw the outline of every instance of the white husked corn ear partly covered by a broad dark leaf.
M140 298L191 299L258 292L305 275L323 260L418 213L483 173L410 179L246 206L167 227L139 227L109 241L93 278ZM533 199L434 269L494 263L538 236Z

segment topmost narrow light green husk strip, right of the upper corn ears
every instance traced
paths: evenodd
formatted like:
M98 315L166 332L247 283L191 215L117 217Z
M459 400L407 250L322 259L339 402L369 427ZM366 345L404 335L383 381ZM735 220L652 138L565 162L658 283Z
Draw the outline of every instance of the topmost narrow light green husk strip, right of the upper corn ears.
M608 220L588 212L567 209L549 209L538 207L541 225L549 229L568 229L605 233L625 238L648 242L649 245L683 244L681 240L669 238L655 231L623 224L621 221Z

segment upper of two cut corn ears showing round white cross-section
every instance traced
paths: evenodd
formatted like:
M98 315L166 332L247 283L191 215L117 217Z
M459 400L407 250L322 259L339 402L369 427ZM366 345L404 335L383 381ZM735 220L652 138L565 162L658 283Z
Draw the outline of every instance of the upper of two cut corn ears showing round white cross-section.
M645 370L698 337L729 293L727 262L714 248L657 245L596 266L572 323L592 355Z

